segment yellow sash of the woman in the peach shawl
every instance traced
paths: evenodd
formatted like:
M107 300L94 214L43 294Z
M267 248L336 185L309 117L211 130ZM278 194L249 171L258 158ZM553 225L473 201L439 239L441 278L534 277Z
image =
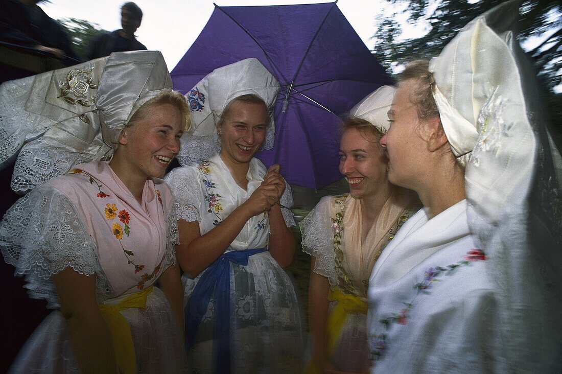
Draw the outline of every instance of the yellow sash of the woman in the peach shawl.
M367 314L367 303L361 301L358 296L343 294L343 292L338 289L331 290L328 292L328 300L338 301L332 312L328 315L328 321L326 326L326 339L328 340L328 352L332 352L336 343L339 339L339 334L342 331L343 323L346 322L347 314L363 313ZM305 370L305 374L317 374L320 373L320 368L318 364L311 360Z

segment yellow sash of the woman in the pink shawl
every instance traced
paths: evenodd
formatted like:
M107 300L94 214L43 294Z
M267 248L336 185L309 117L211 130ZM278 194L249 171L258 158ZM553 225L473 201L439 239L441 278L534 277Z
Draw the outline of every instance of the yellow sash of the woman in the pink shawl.
M115 305L100 304L99 311L111 331L115 350L115 361L121 372L125 374L137 373L137 355L133 345L133 337L129 323L120 310L129 308L146 309L146 298L152 292L152 286L128 296Z

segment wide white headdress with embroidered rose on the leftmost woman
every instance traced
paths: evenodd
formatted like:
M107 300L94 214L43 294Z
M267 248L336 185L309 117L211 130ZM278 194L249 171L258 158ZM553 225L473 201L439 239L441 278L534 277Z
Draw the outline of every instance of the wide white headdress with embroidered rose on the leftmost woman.
M116 52L4 82L0 168L17 156L12 190L26 193L76 164L110 158L134 111L163 88L171 78L158 51Z

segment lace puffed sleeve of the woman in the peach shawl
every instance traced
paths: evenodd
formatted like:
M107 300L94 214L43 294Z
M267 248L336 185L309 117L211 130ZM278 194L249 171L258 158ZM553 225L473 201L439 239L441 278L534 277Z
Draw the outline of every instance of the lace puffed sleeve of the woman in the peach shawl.
M323 197L300 223L302 250L316 258L314 272L327 277L330 285L336 285L336 260L334 236L330 214L332 196Z

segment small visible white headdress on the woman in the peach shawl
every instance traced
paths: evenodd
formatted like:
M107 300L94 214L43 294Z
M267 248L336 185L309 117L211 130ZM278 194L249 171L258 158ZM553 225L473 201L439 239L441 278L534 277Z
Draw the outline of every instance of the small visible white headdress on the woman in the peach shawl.
M350 110L350 116L364 119L383 134L386 133L390 127L388 111L395 93L396 88L391 85L377 88Z

